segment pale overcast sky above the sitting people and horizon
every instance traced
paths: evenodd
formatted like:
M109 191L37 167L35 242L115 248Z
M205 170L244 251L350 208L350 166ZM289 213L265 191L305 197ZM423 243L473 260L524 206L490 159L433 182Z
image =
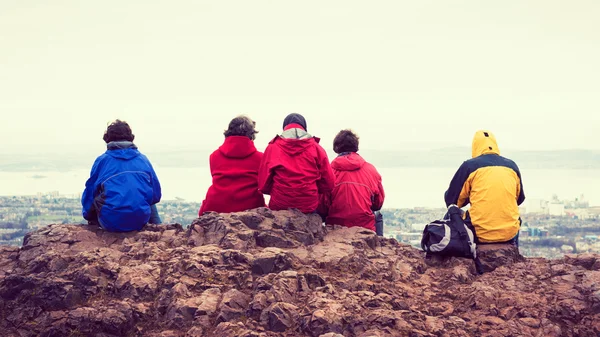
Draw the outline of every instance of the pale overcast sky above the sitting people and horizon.
M330 147L600 149L600 2L0 0L0 152L215 148L290 112ZM467 156L469 154L466 154Z

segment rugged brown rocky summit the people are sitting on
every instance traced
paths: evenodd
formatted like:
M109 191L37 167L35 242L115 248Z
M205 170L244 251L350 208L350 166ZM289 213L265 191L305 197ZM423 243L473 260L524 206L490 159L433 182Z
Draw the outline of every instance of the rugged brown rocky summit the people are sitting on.
M473 261L296 211L51 225L0 247L2 336L598 336L600 257Z

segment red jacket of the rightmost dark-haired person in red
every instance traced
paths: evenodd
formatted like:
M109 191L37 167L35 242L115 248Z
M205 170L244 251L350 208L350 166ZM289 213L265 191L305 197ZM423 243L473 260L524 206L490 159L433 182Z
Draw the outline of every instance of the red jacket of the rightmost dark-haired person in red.
M375 215L383 206L385 194L381 175L358 153L340 155L331 163L335 187L321 198L319 213L327 214L327 224L364 227L375 230Z

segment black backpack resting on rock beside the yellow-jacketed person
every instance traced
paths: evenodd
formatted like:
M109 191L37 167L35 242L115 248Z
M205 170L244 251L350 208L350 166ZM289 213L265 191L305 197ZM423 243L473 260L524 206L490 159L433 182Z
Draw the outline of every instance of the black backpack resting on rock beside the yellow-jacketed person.
M467 221L456 205L450 205L442 220L435 220L423 229L421 248L427 255L466 257L475 261L475 268L483 274L477 257L477 236L467 212Z

